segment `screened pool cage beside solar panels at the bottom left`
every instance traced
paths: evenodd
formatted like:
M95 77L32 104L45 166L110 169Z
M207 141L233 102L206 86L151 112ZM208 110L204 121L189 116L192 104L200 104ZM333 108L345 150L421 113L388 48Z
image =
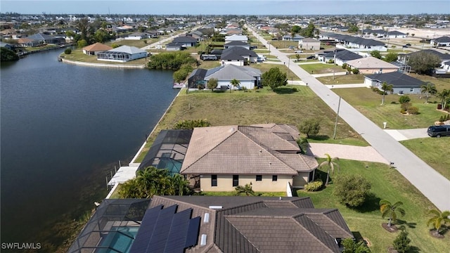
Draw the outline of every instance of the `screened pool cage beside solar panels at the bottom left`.
M149 205L148 199L103 200L68 252L127 252Z

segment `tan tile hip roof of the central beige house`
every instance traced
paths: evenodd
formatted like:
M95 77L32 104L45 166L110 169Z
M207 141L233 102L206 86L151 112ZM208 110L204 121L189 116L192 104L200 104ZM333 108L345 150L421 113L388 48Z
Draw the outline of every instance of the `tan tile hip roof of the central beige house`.
M296 175L316 169L314 157L300 154L297 136L283 124L195 128L180 173Z

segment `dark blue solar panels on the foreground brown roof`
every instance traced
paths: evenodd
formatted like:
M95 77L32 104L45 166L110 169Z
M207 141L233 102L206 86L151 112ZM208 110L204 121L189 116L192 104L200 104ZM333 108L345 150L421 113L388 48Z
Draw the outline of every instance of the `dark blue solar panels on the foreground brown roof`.
M176 212L177 207L148 209L129 252L176 253L197 245L200 217L191 219L191 208Z

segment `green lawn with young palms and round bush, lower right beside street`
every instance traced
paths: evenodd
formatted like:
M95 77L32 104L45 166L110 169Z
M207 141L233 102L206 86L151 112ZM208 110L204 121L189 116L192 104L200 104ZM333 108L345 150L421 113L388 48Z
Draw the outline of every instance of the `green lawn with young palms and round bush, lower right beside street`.
M372 252L387 252L387 247L392 245L392 241L398 235L385 231L381 226L387 219L381 218L378 202L380 199L387 199L390 202L401 201L404 203L402 208L405 209L406 215L399 217L398 221L406 226L411 245L418 248L417 251L411 252L448 252L450 233L447 232L446 238L440 240L432 238L428 233L427 212L429 209L435 209L434 205L411 186L398 171L380 163L340 160L339 164L340 171L335 171L335 176L341 173L359 174L371 182L373 196L366 201L364 207L358 210L340 204L332 194L333 183L315 193L297 190L297 195L311 197L316 208L338 208L350 230L361 233L362 237L371 243Z

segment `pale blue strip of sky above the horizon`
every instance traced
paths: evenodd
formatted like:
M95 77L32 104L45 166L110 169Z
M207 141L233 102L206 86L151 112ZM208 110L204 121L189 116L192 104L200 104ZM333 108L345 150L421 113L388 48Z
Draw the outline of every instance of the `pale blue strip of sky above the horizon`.
M20 14L343 15L449 14L449 0L1 0Z

